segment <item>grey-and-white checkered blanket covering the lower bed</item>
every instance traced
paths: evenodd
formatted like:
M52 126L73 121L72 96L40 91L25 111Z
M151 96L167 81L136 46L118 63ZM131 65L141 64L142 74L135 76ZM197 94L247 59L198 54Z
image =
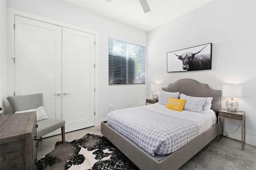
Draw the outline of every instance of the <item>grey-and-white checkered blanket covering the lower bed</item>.
M130 107L107 114L108 124L142 150L167 155L198 136L198 123L143 107Z

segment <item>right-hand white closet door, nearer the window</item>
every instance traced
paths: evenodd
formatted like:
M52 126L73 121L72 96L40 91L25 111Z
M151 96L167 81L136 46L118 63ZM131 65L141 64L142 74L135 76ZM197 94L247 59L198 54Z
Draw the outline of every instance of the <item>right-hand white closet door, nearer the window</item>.
M95 36L62 31L62 117L69 132L94 126Z

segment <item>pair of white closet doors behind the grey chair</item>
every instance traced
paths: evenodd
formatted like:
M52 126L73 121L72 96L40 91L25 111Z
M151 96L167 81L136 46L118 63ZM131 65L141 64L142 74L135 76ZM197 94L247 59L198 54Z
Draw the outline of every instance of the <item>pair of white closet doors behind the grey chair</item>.
M91 33L15 16L15 95L42 93L66 132L94 126L94 42Z

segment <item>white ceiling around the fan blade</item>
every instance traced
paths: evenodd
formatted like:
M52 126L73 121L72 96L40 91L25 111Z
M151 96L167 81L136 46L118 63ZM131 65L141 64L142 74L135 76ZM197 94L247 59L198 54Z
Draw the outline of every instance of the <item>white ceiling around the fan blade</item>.
M66 0L66 2L112 20L150 31L212 0L147 0L144 13L139 0Z

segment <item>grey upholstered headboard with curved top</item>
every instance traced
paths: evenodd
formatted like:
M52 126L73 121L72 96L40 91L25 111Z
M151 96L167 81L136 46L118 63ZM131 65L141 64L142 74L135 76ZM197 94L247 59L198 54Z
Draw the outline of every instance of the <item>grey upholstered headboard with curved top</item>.
M166 92L180 92L194 97L212 97L211 109L214 111L220 110L221 90L212 90L208 84L202 84L196 80L184 78L169 84L168 87L162 88L162 90Z

